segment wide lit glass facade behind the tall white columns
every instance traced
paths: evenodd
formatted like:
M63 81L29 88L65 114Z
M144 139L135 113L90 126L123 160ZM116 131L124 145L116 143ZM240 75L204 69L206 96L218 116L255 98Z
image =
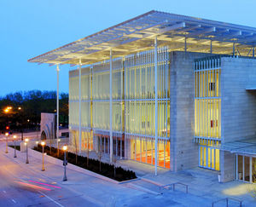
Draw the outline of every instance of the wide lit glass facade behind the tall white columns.
M109 68L109 60L82 68L82 150L89 147L90 150L109 153ZM113 154L154 164L154 50L113 59L112 68ZM166 47L158 49L157 75L157 160L159 166L170 168L170 62ZM69 118L74 145L79 143L76 141L79 135L77 70L70 72L69 90Z

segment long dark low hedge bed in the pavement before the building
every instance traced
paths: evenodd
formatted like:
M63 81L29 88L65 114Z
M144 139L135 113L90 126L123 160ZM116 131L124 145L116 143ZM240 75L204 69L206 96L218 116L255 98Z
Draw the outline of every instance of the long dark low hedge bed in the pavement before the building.
M34 147L34 150L38 152L42 152L42 146L38 145L38 147ZM44 152L46 152L48 155L59 158L63 160L64 158L64 151L60 149L59 151L59 157L57 156L57 149L55 147L51 147L51 153L49 152L49 147L44 147ZM77 165L81 168L84 168L86 170L93 171L97 174L107 176L113 180L116 181L127 181L131 179L137 178L135 175L135 172L131 170L124 170L121 167L115 168L115 176L113 175L114 172L114 165L113 164L107 164L102 163L101 164L101 171L100 171L100 161L97 159L89 158L89 165L87 166L87 157L82 157L78 155L78 163L76 164L76 154L73 152L67 152L67 162L70 164Z

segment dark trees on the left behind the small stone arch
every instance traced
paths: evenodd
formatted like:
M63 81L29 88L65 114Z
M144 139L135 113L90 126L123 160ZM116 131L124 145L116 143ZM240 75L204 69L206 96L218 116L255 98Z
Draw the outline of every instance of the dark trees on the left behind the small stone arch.
M7 106L12 106L8 114L3 111ZM39 126L41 112L55 112L56 93L40 90L10 93L0 97L0 110L0 129L5 129L6 124L20 131L25 128L34 129ZM65 93L60 95L60 119L60 124L67 124L68 94Z

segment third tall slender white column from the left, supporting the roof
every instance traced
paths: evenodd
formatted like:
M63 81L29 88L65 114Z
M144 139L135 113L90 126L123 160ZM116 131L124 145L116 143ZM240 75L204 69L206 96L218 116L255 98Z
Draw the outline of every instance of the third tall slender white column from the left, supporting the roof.
M109 62L109 137L110 137L110 163L113 162L113 131L112 131L112 49L110 49Z

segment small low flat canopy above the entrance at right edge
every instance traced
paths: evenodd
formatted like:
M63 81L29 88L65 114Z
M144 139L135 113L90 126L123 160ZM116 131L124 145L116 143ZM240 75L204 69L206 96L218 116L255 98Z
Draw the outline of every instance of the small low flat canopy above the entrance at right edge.
M228 152L256 155L256 138L241 141L232 141L222 144L221 150Z

